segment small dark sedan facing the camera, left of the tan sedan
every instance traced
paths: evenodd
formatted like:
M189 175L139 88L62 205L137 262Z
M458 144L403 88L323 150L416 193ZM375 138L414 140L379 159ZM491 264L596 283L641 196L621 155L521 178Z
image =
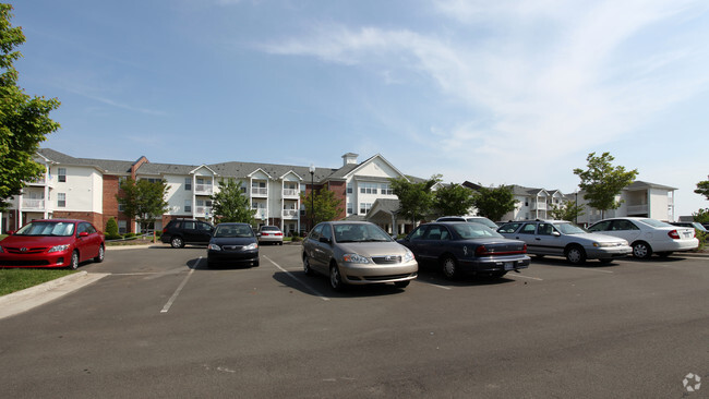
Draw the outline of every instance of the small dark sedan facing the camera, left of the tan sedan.
M219 223L207 246L207 266L238 264L259 266L259 240L248 223Z

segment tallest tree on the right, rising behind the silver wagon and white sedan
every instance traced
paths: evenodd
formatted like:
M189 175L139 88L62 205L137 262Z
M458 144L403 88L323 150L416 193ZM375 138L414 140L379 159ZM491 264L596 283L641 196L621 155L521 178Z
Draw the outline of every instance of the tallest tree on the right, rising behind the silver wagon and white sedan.
M622 201L615 201L615 196L621 193L623 188L629 185L638 174L637 169L626 171L625 167L613 167L611 162L615 158L610 153L603 153L600 157L596 153L588 155L588 169L574 169L581 182L578 186L584 190L584 198L588 204L601 211L604 216L608 209L617 209Z

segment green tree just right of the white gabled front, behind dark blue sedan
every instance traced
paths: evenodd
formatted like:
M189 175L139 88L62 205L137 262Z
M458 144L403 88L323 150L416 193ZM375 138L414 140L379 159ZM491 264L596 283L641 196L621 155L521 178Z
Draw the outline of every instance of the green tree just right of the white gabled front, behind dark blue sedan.
M399 215L416 225L430 215L433 208L433 186L441 182L435 174L422 182L412 182L406 178L389 179L392 191L399 198Z

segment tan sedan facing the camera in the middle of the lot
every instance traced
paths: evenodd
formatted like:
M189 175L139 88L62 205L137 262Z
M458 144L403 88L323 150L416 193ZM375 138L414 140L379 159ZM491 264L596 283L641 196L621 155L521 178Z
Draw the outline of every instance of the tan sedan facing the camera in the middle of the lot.
M315 226L303 241L302 259L307 275L328 276L336 291L346 285L382 282L405 288L419 271L411 251L365 221L325 221Z

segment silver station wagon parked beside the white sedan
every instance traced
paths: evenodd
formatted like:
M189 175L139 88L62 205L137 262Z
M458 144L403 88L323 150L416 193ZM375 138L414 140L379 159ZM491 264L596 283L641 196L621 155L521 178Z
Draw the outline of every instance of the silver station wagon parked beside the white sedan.
M527 253L564 256L575 265L586 259L609 263L615 257L625 257L633 252L628 242L623 239L589 233L565 220L510 221L502 225L497 232L508 239L526 242Z

